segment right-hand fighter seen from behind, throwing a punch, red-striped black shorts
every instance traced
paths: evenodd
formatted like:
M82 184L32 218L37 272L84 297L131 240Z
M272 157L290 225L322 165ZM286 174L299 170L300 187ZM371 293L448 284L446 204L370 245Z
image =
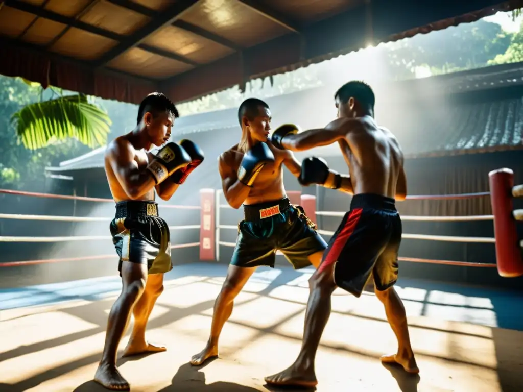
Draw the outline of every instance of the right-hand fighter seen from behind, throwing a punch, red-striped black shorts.
M402 224L395 200L406 197L403 152L394 135L374 120L374 93L363 82L349 82L336 95L338 118L324 129L297 133L275 132L279 148L302 151L338 142L349 167L349 176L329 170L321 158L302 163L302 185L319 184L354 194L350 211L329 241L320 267L310 279L311 293L305 315L302 348L297 360L281 373L265 378L268 384L311 387L317 384L314 359L323 329L331 314L331 295L336 287L359 297L373 276L374 292L385 307L399 349L381 361L397 363L418 373L408 336L405 308L394 290L397 253Z

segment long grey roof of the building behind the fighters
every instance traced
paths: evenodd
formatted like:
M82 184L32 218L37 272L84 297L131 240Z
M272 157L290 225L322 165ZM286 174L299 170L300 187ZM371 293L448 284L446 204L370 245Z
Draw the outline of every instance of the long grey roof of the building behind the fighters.
M334 91L321 87L266 99L273 127L287 122L303 129L324 126L335 115ZM377 121L398 137L407 157L523 148L523 63L384 84L375 91ZM239 128L232 108L179 118L174 137L190 137L218 156L237 143ZM47 170L102 168L104 151L105 146ZM331 145L315 154L340 152ZM310 152L297 154L305 155Z

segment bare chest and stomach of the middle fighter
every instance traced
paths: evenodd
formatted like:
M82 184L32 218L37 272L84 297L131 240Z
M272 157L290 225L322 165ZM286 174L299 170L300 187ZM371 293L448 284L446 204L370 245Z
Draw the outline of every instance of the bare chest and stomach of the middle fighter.
M283 162L288 152L274 147L270 142L268 142L267 145L274 154L275 162L266 164L263 169L261 169L253 183L252 189L249 191L247 199L243 202L245 205L279 200L287 197L285 187L283 186ZM237 148L238 145L235 145L223 154L226 163L234 172L237 172L238 167L240 167L244 155L239 152Z

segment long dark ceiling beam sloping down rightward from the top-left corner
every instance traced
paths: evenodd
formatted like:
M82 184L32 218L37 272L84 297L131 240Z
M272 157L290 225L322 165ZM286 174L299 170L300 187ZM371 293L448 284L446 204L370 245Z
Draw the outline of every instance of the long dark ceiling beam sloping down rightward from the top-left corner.
M105 37L105 38L109 38L109 39L118 41L118 42L120 42L120 44L129 39L127 36L123 36L122 34L118 34L118 33L112 32L112 31L101 29L97 26L89 25L88 23L82 22L81 20L77 20L76 18L69 18L69 17L63 16L60 14L56 14L53 11L43 9L43 8L34 6L32 4L29 4L29 3L21 2L19 0L6 0L5 3L9 7L13 7L13 8L19 9L21 11L26 11L30 14L36 15L37 17L46 18L46 19L53 20L55 22L59 22L61 24L67 25L67 28L64 29L64 31L62 31L61 34L59 34L59 37L61 37L63 35L63 33L65 33L65 31L67 29L69 29L70 27L75 27L75 28L78 28L78 29L81 29L84 31L88 31L93 34L97 34L98 36L101 36L101 37ZM54 43L56 40L57 39L53 40L52 43ZM118 46L119 45L117 45L116 48L118 48ZM167 57L168 59L176 60L176 61L179 61L179 62L182 62L185 64L189 64L192 66L199 65L199 63L197 63L193 60L187 59L187 57L180 56L179 54L172 53L172 52L162 50L159 48L155 48L155 47L152 47L151 45L139 44L137 46L143 50L146 50L147 52L158 54L158 55Z

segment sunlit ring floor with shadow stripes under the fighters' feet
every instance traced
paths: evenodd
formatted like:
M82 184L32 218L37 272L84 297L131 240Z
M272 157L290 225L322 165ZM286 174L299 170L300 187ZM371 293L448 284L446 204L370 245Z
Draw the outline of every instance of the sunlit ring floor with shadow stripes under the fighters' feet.
M195 263L168 274L149 323L149 339L168 350L120 360L132 391L275 390L263 377L299 351L312 270L260 268L224 327L221 358L195 368L188 361L207 340L225 272ZM111 277L0 291L0 391L105 390L91 379L120 286ZM521 294L407 280L397 291L420 375L380 364L396 341L374 295L338 290L317 355L318 391L523 391Z

